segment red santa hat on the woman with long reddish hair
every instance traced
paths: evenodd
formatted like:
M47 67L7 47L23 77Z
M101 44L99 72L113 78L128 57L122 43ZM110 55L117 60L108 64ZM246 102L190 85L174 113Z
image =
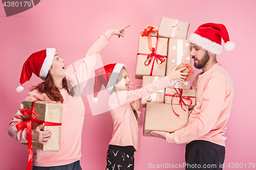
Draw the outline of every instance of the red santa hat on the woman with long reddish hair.
M19 79L19 86L16 88L17 92L22 92L24 90L24 87L21 85L30 80L32 73L37 77L40 77L42 80L46 79L48 71L52 66L55 52L55 48L47 48L46 50L33 53L29 56L23 64L22 74Z

